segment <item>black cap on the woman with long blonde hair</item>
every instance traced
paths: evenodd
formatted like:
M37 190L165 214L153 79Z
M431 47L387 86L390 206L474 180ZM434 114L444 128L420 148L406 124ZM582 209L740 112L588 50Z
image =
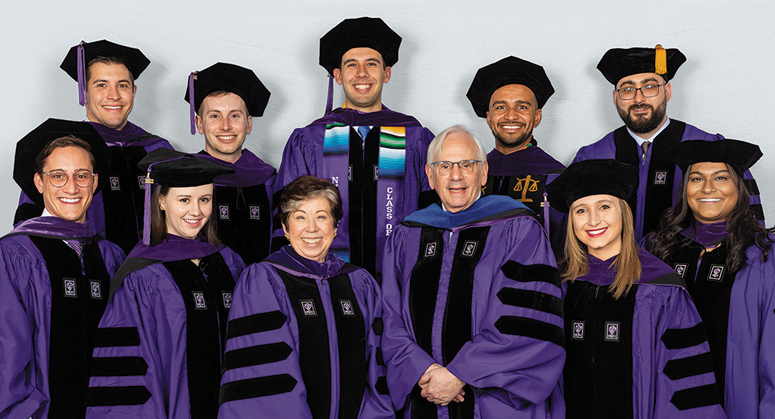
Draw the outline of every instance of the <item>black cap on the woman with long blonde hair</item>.
M626 200L638 187L638 167L612 159L584 160L568 166L546 185L549 202L560 212L569 212L576 200L590 195L612 195Z

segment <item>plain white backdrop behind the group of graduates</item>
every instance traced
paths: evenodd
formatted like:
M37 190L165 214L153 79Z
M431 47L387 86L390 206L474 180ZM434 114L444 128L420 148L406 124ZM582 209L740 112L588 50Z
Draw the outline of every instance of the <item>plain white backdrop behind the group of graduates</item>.
M18 199L16 141L49 117L85 119L76 83L59 69L72 45L109 39L140 48L151 65L137 80L129 119L187 152L204 145L188 132L188 73L218 61L253 69L272 96L246 144L277 167L291 131L325 108L319 38L359 16L382 17L403 37L384 104L433 132L465 124L487 148L494 146L487 124L465 98L476 70L508 55L544 66L556 93L534 135L565 164L622 124L612 86L595 69L603 53L657 43L679 48L688 61L672 80L668 116L759 144L765 157L752 172L767 223L775 223L775 144L768 141L775 122L766 105L775 93L771 2L29 0L3 5L0 24L0 170L7 179L0 234L11 228ZM343 100L337 88L335 105Z

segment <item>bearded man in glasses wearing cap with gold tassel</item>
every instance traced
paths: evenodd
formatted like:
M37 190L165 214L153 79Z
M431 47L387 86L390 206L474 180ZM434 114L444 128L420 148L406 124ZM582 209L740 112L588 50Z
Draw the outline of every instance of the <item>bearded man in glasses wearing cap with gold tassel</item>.
M582 147L573 162L616 159L640 167L637 195L630 198L635 216L635 239L656 230L664 210L673 206L683 173L665 150L686 140L715 141L721 134L709 134L692 125L667 117L670 79L686 57L675 48L614 48L608 50L597 69L615 86L614 105L624 126L600 141ZM759 188L751 173L744 181L751 192L751 210L764 224Z

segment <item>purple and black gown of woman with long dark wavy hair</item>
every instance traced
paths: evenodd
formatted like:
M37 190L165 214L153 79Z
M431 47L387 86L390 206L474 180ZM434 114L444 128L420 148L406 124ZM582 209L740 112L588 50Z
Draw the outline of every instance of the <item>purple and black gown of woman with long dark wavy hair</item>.
M762 262L756 245L738 272L726 267L722 243L700 258L705 245L727 235L724 222L697 224L693 239L666 261L687 283L708 331L716 381L729 418L775 417L775 256Z

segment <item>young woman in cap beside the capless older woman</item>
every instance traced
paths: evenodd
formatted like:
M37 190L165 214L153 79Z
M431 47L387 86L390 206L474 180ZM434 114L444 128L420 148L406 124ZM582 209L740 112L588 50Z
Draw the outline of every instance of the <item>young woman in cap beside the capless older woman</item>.
M226 319L245 268L212 217L213 178L232 171L167 149L139 166L148 173L145 234L111 283L87 417L214 418Z

